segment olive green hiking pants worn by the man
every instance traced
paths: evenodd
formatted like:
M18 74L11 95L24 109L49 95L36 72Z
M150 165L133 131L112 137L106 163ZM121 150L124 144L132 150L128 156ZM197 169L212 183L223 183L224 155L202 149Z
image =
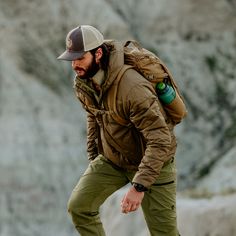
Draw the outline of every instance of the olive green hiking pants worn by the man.
M163 167L160 175L168 178L172 176L173 180L155 183L145 192L142 201L142 210L152 236L179 235L176 226L176 177L173 160ZM102 155L90 162L68 202L68 211L81 236L105 236L99 207L112 193L131 182L134 174L135 172L116 168Z

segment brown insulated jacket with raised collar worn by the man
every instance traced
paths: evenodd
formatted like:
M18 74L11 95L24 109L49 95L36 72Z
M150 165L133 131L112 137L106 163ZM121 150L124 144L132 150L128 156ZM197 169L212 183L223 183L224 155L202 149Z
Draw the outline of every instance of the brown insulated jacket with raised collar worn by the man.
M119 115L130 120L130 125L122 126L112 118L107 101L124 65L124 52L121 43L107 43L113 49L100 99L88 83L75 79L76 95L88 112L89 159L102 153L115 165L137 171L133 182L150 187L164 163L175 155L173 126L160 112L152 85L133 69L127 70L120 81L116 106Z

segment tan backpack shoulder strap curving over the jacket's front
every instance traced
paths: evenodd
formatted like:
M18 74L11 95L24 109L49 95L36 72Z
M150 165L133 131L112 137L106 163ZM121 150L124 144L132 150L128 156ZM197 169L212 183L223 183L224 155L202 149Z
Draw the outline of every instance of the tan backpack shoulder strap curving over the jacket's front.
M118 114L117 106L116 106L116 103L117 103L117 90L118 90L118 87L119 87L119 84L120 84L120 80L123 77L124 73L128 69L131 69L131 68L133 68L133 66L131 66L131 65L124 65L121 68L121 70L119 71L119 73L116 77L116 80L115 80L114 84L112 85L112 87L110 89L109 98L108 98L108 101L107 101L108 109L110 111L110 114L111 114L112 118L117 123L119 123L120 125L123 125L123 126L130 126L131 123L130 123L130 121L122 118Z

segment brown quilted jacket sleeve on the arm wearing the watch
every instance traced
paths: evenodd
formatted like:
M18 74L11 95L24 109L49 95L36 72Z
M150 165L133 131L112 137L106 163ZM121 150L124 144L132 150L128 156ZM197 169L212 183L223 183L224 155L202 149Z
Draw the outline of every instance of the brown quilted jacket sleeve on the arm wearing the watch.
M129 117L145 142L144 156L133 182L150 187L168 159L171 134L149 83L133 87L127 97Z

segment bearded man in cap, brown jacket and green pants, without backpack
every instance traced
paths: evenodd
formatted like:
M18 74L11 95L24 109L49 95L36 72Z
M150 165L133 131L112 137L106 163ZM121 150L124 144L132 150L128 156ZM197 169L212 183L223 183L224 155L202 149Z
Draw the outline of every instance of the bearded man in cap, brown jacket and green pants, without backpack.
M105 235L99 208L116 190L131 183L121 211L140 206L153 236L179 235L176 226L176 140L173 125L160 112L155 90L134 69L125 71L123 45L106 41L94 27L81 25L66 37L58 57L72 61L75 92L87 111L87 150L90 164L74 188L68 211L82 236ZM121 125L109 110L117 89ZM132 227L132 226L131 226Z

